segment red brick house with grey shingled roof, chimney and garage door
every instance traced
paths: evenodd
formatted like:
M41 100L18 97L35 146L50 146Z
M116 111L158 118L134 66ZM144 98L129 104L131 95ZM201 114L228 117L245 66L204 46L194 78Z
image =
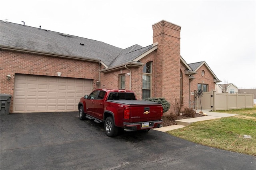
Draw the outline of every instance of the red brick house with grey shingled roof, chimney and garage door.
M96 88L131 89L137 99L181 99L190 107L198 87L220 82L205 61L180 56L181 27L153 24L153 44L126 49L42 28L1 22L1 94L12 95L10 113L77 111ZM6 75L10 74L10 80ZM171 107L172 108L172 107Z

